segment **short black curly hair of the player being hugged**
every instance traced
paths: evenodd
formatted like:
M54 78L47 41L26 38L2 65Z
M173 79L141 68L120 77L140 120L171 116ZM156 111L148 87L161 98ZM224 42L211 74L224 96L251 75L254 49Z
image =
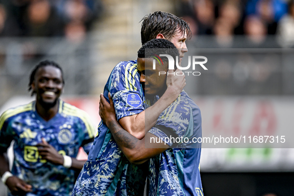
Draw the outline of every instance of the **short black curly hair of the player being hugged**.
M176 56L179 56L179 51L176 48L176 46L167 39L152 39L145 43L138 50L138 58L152 58L154 57L154 55L160 54L168 54L171 55L174 59L176 59ZM168 60L166 57L161 57L161 59L163 61Z

